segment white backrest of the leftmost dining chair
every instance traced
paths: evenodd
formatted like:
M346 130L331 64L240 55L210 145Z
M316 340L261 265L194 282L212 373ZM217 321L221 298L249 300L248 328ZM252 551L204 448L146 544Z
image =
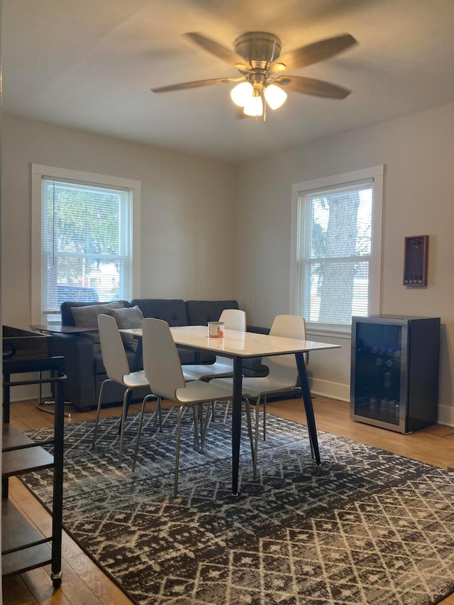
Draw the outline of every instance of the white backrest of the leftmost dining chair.
M123 376L129 374L131 370L115 318L99 313L98 328L102 362L106 368L106 374L111 380L123 384Z

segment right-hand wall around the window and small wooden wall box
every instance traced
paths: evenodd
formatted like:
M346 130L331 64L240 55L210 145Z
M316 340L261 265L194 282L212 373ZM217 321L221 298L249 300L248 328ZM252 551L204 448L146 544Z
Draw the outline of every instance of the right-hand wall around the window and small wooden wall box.
M236 290L250 323L288 313L292 184L385 165L382 313L441 317L439 419L454 426L454 104L238 167ZM428 286L402 285L404 237L429 235ZM348 399L350 340L311 355L314 391Z

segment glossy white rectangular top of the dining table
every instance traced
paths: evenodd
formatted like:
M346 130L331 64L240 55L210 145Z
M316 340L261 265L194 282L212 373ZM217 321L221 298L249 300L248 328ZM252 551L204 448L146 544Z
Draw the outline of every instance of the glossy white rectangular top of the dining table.
M175 344L209 350L214 353L233 357L259 357L283 355L284 353L306 353L307 351L335 349L341 345L316 343L313 340L284 338L270 334L224 330L223 338L208 336L206 326L178 326L170 328ZM142 328L121 330L121 333L133 334L140 338Z

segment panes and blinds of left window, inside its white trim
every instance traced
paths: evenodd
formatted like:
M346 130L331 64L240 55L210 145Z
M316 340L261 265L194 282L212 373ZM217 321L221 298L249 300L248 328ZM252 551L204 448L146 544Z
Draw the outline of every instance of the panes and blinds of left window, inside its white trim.
M131 192L43 177L41 308L131 296Z

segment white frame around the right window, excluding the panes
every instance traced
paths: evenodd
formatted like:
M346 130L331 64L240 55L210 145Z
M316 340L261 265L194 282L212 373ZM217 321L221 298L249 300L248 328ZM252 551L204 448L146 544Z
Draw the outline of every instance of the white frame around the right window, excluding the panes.
M369 313L380 313L382 306L382 218L383 218L383 183L384 165L378 165L342 174L333 174L329 177L311 179L292 185L292 235L290 250L290 313L297 313L297 215L298 199L300 195L314 189L327 187L343 187L354 182L373 179L374 199L372 209L372 255L370 260L369 281ZM307 321L306 326L311 333L321 335L342 335L351 332L351 326L334 326L319 321Z

